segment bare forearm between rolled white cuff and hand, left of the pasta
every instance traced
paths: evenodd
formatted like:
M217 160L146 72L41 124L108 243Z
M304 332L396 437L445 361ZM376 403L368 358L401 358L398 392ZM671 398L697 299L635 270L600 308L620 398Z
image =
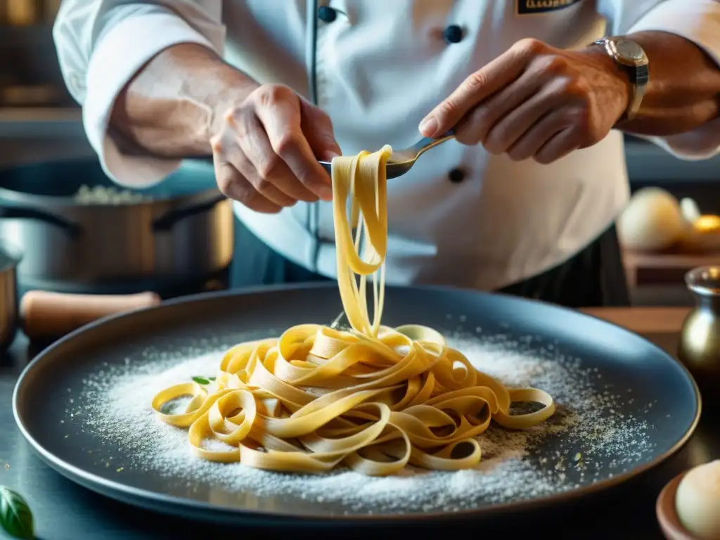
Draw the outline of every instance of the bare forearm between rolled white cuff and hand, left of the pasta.
M174 45L125 86L110 125L156 156L209 156L210 137L222 113L257 86L202 45Z

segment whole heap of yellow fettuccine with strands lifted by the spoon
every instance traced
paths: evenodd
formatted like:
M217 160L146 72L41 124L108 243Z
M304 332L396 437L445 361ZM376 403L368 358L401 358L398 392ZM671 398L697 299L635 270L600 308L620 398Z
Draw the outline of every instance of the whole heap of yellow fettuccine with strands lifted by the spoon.
M333 160L338 288L351 329L298 325L279 338L240 343L214 382L177 384L153 399L161 420L189 428L200 458L284 472L344 466L380 476L408 464L453 471L480 462L478 436L491 420L523 429L554 414L546 392L508 390L436 330L381 324L391 154L385 146ZM165 412L188 395L181 413ZM518 402L542 407L511 414ZM226 449L210 449L207 440Z

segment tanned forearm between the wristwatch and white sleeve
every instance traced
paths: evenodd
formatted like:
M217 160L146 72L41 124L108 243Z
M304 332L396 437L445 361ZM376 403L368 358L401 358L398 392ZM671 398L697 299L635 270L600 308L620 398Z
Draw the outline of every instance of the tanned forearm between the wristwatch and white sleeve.
M720 115L720 67L701 48L667 32L628 36L644 48L650 78L633 120L618 129L639 135L676 135Z

